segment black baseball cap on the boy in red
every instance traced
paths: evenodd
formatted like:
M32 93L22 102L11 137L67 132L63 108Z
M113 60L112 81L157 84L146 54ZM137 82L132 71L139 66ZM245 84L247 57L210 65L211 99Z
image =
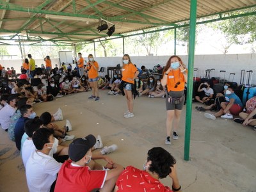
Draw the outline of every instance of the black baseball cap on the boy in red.
M82 159L90 148L96 143L96 138L92 134L84 138L77 138L70 143L68 148L68 156L72 161L79 161Z

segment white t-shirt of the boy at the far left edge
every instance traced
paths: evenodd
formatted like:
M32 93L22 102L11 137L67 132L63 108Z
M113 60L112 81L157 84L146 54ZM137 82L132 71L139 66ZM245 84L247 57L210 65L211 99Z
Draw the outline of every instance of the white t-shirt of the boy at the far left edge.
M15 113L15 108L6 104L3 109L0 110L0 124L3 129L8 129L11 123L10 118Z

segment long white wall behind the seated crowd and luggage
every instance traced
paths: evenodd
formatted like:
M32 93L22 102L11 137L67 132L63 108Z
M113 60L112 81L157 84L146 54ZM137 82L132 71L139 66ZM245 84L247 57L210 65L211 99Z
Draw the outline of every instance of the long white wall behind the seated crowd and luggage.
M155 65L160 64L164 66L170 56L132 56L132 63L137 67L145 65L147 68L152 69ZM188 65L188 56L180 56L182 61ZM95 58L98 61L100 67L116 67L118 63L122 63L122 57L109 57L109 58ZM21 60L1 60L1 65L4 67L14 67L19 71ZM40 67L44 60L36 60L36 65ZM59 59L52 59L52 67L55 64L59 65ZM211 55L196 55L194 68L198 68L199 72L197 76L204 76L205 69L215 68L216 77L220 76L220 70L226 70L225 78L228 79L229 73L236 73L234 81L240 83L241 70L253 70L254 76L252 83L256 84L256 54L211 54ZM107 73L106 70L104 72ZM212 74L213 76L213 74Z

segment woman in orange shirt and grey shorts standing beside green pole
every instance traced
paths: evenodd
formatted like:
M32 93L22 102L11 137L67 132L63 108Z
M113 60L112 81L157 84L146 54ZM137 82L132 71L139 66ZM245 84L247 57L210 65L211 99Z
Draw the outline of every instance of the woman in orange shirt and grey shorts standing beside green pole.
M184 88L188 80L188 70L179 56L171 56L163 70L161 83L167 86L166 94L166 145L171 145L170 134L173 127L173 140L179 139L177 129L179 127L180 115L184 104Z

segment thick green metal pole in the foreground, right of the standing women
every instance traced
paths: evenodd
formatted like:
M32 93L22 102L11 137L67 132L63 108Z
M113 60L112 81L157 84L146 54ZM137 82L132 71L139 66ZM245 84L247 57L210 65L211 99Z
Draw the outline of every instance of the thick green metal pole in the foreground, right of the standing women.
M193 93L193 68L195 56L195 31L196 31L196 4L197 0L191 0L189 22L189 52L188 52L188 96L186 108L186 127L184 141L184 160L189 161L191 117L192 117L192 93Z

